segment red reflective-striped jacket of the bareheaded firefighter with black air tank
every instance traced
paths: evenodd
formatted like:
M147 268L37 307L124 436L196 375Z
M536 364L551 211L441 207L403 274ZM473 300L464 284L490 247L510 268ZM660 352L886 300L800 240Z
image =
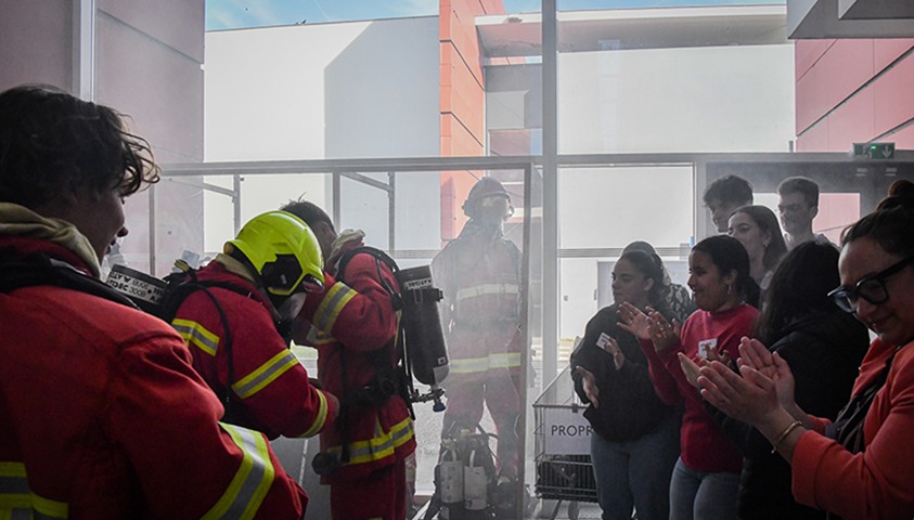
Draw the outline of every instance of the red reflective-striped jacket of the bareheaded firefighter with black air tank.
M379 282L377 265L373 256L356 255L340 276L346 283L326 275L326 291L318 298L308 295L299 314L302 323L310 324L310 329L304 327L308 337L302 342L318 349L321 384L340 399L348 399L343 407L345 420L340 417L321 433L321 448L339 454L342 425L348 430L350 459L326 479L330 483L368 474L415 451L412 419L401 396L392 395L378 406L345 398L368 385L384 365L392 367L397 362L398 316L390 295ZM384 262L381 270L387 284L398 291L397 281ZM383 349L379 354L373 353L379 349Z

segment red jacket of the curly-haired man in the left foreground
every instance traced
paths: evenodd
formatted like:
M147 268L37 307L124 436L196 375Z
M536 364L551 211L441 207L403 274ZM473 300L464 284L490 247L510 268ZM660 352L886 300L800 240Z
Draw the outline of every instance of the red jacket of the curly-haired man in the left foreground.
M46 240L0 251L88 273ZM50 285L0 292L0 518L302 518L305 492L261 433L218 422L165 322Z

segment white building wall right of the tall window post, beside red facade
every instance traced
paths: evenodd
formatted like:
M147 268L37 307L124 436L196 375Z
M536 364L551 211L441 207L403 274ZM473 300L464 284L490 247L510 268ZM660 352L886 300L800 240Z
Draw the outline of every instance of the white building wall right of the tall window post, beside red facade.
M578 52L558 61L561 154L787 152L794 46Z

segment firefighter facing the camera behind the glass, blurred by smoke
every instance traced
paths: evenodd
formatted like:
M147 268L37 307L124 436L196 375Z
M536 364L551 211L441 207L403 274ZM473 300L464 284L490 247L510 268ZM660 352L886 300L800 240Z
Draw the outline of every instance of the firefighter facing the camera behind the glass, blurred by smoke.
M509 490L499 496L507 499L519 464L520 251L503 234L512 208L499 181L480 179L463 210L469 221L432 262L445 294L441 322L450 355L441 437L475 432L485 403L498 430L499 481Z

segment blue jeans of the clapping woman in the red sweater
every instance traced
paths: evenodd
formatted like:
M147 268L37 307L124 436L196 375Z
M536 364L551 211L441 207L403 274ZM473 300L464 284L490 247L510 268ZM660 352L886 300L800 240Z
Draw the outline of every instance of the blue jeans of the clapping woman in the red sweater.
M670 520L735 520L739 473L697 471L682 464L670 482Z

